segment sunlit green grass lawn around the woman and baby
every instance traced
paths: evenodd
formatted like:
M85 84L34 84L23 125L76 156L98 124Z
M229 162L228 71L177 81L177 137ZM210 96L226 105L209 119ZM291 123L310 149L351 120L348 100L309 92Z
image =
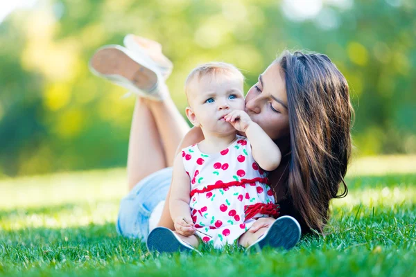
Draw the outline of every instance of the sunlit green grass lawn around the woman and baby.
M157 257L140 240L119 237L125 170L3 179L0 275L416 276L416 166L408 166L416 159L394 159L353 164L349 195L331 204L326 236L250 256L206 249L202 257Z

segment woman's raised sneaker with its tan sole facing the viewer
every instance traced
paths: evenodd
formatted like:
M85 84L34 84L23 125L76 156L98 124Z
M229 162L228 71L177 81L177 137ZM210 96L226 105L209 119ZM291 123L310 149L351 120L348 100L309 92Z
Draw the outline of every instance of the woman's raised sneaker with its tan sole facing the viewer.
M166 97L163 77L148 55L119 45L99 48L89 60L89 70L139 96L161 101Z

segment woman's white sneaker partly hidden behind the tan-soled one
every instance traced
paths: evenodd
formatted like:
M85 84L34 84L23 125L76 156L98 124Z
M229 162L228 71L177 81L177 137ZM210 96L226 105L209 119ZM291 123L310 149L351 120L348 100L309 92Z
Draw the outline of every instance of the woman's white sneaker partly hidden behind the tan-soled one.
M147 62L153 62L155 64L164 80L171 75L173 64L162 54L162 46L159 43L146 39L145 37L128 34L124 37L123 44L135 53L139 53L142 56L146 55L148 57ZM155 53L155 55L152 55L152 53Z

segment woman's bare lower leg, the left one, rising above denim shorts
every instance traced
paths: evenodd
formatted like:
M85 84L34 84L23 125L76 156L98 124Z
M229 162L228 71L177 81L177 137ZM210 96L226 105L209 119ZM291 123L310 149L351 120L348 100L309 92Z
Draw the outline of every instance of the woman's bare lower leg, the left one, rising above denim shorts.
M141 179L163 168L166 168L166 161L155 118L146 100L137 97L128 143L129 191Z

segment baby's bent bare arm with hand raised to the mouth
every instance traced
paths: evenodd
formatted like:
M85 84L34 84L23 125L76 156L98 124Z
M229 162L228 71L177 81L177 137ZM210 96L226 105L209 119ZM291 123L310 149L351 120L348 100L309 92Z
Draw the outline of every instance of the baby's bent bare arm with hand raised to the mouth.
M232 111L225 116L225 120L231 123L237 131L245 133L252 145L254 161L259 163L263 170L272 171L279 166L281 160L279 147L245 111Z

